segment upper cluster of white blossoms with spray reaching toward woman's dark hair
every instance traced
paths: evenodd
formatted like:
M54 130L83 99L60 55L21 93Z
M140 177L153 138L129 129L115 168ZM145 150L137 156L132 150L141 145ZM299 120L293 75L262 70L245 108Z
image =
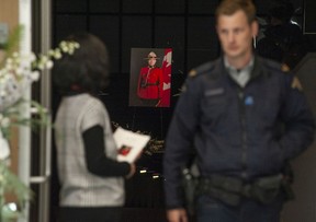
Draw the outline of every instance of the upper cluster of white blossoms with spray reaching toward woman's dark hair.
M18 113L20 103L25 102L22 98L25 90L38 80L41 71L53 67L53 59L60 59L63 54L72 55L78 47L78 43L61 42L57 48L49 50L47 55L36 56L34 52L21 55L16 51L4 55L0 67L0 129L3 137L9 136L9 129L12 125L32 124L26 119L20 119ZM31 105L40 114L45 112L35 102L31 102Z

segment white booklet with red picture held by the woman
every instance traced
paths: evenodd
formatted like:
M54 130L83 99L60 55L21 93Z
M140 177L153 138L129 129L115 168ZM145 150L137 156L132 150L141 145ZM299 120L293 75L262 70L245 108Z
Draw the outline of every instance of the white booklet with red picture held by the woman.
M117 161L133 163L150 140L150 136L140 135L119 127L113 133L117 147Z

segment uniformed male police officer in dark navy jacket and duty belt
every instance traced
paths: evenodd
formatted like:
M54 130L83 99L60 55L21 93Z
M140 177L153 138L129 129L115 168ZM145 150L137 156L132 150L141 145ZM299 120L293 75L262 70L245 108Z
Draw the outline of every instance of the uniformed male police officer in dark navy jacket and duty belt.
M167 217L187 222L181 171L196 152L199 222L279 222L283 168L314 139L315 125L298 80L258 57L251 0L216 10L223 56L190 72L166 139Z

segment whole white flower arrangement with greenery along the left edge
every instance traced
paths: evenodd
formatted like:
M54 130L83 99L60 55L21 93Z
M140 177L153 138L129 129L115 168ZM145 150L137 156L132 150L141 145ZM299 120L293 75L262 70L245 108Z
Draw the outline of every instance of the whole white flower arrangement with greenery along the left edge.
M32 191L8 167L10 163L10 139L12 127L49 124L46 109L35 101L26 101L24 94L32 83L40 79L43 70L53 68L54 60L63 55L72 55L79 48L78 43L61 42L47 55L20 54L16 50L22 28L16 28L9 37L8 44L0 49L0 221L10 221L20 217L23 202L32 197ZM21 113L22 104L30 104L38 114L36 118L25 117ZM5 203L5 194L13 194L19 207Z

